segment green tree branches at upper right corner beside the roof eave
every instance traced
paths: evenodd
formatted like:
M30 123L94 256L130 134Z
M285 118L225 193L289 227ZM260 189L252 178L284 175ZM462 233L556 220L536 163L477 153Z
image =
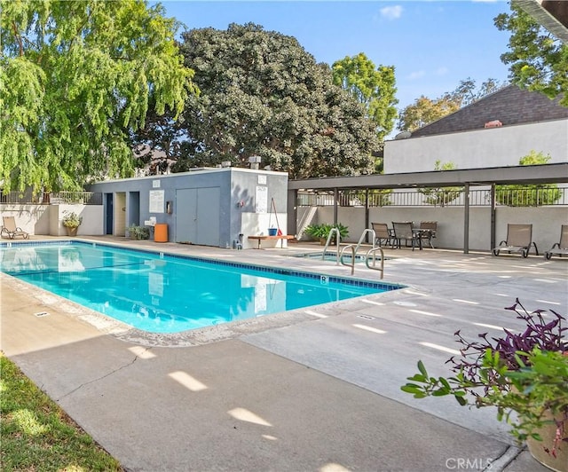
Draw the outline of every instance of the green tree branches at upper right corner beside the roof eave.
M509 51L501 54L501 61L509 64L511 82L548 98L562 95L560 104L568 106L568 45L514 3L511 13L501 13L494 23L511 32Z

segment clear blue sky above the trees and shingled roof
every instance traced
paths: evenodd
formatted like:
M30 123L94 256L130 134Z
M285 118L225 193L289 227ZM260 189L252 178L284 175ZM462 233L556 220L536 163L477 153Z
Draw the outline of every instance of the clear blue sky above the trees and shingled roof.
M166 16L187 29L225 30L253 22L295 36L318 62L330 66L364 52L375 66L394 66L398 105L422 95L439 98L471 78L480 86L507 81L500 56L509 32L493 18L510 12L504 0L415 1L162 1Z

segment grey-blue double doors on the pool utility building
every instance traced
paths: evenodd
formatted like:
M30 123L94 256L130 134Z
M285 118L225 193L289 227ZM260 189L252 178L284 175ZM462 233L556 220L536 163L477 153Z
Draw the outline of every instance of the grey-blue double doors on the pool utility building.
M176 191L176 242L220 247L219 187Z

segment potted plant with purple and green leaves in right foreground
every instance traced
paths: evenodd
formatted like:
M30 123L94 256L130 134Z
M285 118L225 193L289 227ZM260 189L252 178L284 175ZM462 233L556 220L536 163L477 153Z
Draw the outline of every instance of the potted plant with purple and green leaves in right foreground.
M448 359L451 377L432 377L422 361L401 389L415 398L453 395L460 405L495 406L497 419L526 442L536 460L568 471L568 344L564 317L529 313L518 301L506 310L525 321L522 333L504 329L501 337L467 341L460 331L461 355Z

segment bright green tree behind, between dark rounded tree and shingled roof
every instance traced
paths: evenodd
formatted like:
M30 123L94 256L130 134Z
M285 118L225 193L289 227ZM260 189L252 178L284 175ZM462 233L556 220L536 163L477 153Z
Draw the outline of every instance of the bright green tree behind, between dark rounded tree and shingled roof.
M337 60L332 66L335 85L339 85L365 106L375 123L381 141L390 133L397 117L394 67L379 66L363 52Z

